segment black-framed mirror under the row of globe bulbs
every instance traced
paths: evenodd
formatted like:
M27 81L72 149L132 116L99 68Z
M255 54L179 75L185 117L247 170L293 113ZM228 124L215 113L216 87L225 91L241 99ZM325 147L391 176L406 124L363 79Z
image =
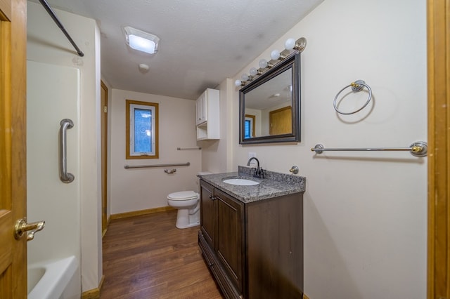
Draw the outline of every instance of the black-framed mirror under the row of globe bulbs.
M239 91L239 143L300 142L300 53Z

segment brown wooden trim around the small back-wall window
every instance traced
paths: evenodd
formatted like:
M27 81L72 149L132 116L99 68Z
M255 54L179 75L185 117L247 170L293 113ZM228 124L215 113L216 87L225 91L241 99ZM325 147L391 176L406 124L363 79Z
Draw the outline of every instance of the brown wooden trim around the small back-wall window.
M154 154L132 154L131 150L131 140L130 136L131 133L134 133L134 126L130 126L130 112L133 111L133 108L131 108L131 105L141 105L141 106L147 106L152 107L155 110L155 126L152 129L153 135L155 136L155 151ZM125 137L125 156L126 159L159 159L159 130L158 130L158 123L159 123L159 112L158 112L158 106L159 104L156 102L142 102L137 100L126 100L126 115L125 115L125 126L126 126L126 137Z

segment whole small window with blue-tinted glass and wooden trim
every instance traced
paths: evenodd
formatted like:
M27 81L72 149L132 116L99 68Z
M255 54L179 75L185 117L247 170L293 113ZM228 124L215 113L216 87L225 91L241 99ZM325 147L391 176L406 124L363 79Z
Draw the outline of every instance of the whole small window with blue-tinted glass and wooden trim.
M158 159L158 103L127 100L127 159Z

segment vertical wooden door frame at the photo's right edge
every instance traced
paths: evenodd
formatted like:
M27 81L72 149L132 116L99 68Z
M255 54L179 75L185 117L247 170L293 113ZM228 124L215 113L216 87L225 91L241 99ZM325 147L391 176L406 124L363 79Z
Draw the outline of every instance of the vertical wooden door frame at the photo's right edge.
M450 298L450 1L428 0L428 299Z

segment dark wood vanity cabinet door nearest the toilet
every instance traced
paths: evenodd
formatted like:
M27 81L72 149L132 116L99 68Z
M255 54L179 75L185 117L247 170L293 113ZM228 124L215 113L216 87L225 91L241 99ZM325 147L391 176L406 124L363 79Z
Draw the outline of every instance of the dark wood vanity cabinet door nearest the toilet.
M217 225L213 195L213 187L200 180L200 230L211 248L215 247L214 234Z

